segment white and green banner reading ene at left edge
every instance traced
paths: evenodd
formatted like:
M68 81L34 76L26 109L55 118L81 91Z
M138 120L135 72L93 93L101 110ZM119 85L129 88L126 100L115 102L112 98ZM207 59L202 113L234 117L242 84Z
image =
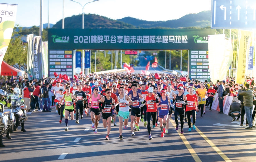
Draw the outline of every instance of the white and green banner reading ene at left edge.
M0 70L3 57L12 37L16 13L17 5L0 3Z

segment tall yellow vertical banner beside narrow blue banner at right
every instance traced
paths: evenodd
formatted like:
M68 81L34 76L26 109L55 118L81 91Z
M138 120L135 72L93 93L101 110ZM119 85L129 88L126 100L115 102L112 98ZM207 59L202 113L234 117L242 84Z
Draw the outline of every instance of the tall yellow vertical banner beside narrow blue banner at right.
M237 66L236 66L236 83L243 84L245 81L246 72L246 58L248 55L248 49L252 39L252 32L239 30L239 44L237 52Z

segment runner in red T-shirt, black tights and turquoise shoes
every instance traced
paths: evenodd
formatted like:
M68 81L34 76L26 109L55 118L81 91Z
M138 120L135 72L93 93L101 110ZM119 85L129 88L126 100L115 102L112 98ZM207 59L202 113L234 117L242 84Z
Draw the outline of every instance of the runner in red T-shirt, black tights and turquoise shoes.
M188 105L186 106L186 112L188 117L189 132L191 132L191 115L193 116L193 130L196 129L196 110L198 109L198 99L195 94L193 94L193 87L189 86L189 94L186 95L188 100Z

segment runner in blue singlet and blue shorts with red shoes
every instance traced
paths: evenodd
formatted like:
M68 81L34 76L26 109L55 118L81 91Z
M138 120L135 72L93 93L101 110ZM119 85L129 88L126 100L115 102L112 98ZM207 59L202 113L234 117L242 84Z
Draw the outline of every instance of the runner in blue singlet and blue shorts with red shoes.
M161 90L161 97L159 100L159 113L158 117L160 120L160 128L161 128L161 137L164 137L164 134L166 133L166 120L169 115L169 110L170 109L170 98L166 96L166 90L162 89Z

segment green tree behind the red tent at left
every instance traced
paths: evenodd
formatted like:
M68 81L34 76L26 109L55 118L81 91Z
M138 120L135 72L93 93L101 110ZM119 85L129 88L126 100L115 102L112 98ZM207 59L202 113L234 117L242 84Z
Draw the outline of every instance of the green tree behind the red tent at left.
M9 65L24 65L27 63L27 43L21 40L21 27L16 25L12 32L12 38L3 60Z

